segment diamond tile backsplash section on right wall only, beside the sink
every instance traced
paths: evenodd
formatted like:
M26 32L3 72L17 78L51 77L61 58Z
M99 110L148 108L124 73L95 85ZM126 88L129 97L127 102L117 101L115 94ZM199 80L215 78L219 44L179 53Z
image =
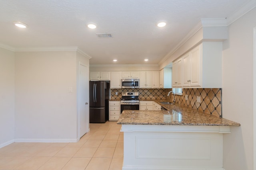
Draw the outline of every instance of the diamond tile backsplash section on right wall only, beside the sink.
M166 89L166 93L172 89ZM188 100L185 100L185 95L188 95ZM196 96L200 96L201 102L196 102ZM172 95L166 96L168 101L172 101ZM222 117L222 88L184 88L182 96L175 96L175 103L181 106L198 109Z

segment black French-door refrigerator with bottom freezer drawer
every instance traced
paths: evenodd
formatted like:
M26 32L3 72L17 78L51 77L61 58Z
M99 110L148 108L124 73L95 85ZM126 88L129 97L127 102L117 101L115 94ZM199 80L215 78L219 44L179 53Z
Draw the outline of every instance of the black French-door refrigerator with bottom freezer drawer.
M90 81L90 123L105 123L108 120L110 87L106 81Z

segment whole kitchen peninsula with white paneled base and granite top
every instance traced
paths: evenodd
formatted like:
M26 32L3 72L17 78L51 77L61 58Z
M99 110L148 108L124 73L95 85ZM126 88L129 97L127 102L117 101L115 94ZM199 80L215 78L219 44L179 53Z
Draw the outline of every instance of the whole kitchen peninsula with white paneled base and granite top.
M168 110L122 112L117 122L124 132L122 170L224 170L223 135L240 124L177 104L160 105Z

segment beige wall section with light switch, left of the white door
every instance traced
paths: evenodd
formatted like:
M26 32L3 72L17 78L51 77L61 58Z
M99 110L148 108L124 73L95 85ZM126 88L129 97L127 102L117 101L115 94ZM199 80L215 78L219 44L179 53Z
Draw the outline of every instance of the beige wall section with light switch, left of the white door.
M76 51L16 52L15 109L17 141L75 141Z

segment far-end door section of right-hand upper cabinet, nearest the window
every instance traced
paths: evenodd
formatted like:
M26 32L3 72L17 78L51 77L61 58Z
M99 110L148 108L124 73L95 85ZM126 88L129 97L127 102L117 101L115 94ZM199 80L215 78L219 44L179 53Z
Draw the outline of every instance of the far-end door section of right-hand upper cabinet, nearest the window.
M172 63L172 87L181 87L182 83L182 58Z

